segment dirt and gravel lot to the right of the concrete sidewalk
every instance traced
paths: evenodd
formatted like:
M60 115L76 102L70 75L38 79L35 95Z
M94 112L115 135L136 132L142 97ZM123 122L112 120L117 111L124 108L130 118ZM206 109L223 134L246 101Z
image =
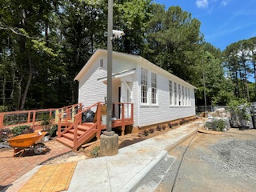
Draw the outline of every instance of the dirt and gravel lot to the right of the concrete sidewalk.
M170 155L176 160L158 192L256 191L256 130L231 128L221 135L198 133Z

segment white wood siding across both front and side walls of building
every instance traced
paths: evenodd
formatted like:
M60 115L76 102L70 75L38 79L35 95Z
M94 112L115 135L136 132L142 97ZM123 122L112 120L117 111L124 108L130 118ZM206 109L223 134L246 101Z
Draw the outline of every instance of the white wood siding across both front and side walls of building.
M103 59L103 67L100 67L100 60ZM90 63L89 63L90 64ZM91 63L90 69L86 70L82 78L79 80L78 102L82 102L83 106L91 106L95 102L105 102L106 84L98 78L106 78L106 54L101 54ZM150 92L151 72L157 74L157 104L141 105L141 87L140 87L140 69L141 67L148 70L148 85ZM134 74L130 74L132 78L122 77L119 80L126 81L132 90L131 102L134 103L134 126L148 126L160 122L168 122L178 118L186 118L195 115L194 86L174 75L166 73L164 70L149 65L149 62L141 57L113 57L113 74L124 70L134 70ZM129 79L129 80L128 80ZM130 80L131 79L131 80ZM113 81L113 102L118 102L118 79ZM169 80L173 83L180 84L190 90L190 106L170 106L169 105ZM174 93L174 87L173 87ZM151 102L151 94L149 93L149 102Z

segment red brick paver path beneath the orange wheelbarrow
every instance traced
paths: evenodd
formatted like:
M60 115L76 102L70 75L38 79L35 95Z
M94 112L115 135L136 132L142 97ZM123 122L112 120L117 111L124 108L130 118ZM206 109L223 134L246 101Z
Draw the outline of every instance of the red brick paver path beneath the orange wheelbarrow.
M0 152L0 190L42 162L70 151L70 148L56 141L45 142L45 144L50 149L47 154L35 155L31 150L30 153L24 153L20 158L13 158L12 148Z

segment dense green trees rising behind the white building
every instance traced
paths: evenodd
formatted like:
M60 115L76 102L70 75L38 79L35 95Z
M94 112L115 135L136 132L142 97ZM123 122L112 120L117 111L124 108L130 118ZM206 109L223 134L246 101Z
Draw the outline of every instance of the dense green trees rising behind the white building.
M114 1L114 50L139 54L198 87L205 73L209 104L234 96L253 101L255 38L222 51L207 43L201 22L179 6L150 0ZM74 77L97 48L106 48L106 0L2 0L0 110L58 107L78 100ZM226 72L226 73L225 73Z

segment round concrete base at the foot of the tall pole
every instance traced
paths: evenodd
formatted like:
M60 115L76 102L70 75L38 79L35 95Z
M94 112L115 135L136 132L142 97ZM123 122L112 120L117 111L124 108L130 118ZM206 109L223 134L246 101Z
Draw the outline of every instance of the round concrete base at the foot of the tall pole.
M102 134L100 137L100 156L118 154L118 134Z

